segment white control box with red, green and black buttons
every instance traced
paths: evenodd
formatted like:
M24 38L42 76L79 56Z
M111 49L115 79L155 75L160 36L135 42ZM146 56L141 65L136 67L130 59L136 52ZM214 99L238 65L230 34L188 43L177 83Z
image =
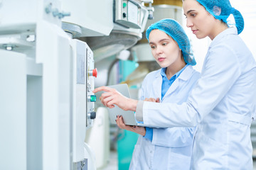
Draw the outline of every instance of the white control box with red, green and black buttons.
M73 49L72 60L72 108L73 108L73 167L80 167L85 159L84 145L87 129L96 118L95 101L92 91L95 88L97 69L93 53L86 42L70 40Z

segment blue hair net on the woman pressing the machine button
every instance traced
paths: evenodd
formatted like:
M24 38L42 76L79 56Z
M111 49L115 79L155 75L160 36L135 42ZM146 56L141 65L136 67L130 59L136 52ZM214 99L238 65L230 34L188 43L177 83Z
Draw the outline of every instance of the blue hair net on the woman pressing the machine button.
M242 14L237 9L233 8L230 4L229 0L196 0L202 6L206 8L211 15L213 15L216 19L223 21L224 23L228 23L227 19L230 14L233 14L235 18L235 26L238 28L238 34L242 33L244 28L244 20L242 18ZM221 9L221 13L216 12L216 8Z

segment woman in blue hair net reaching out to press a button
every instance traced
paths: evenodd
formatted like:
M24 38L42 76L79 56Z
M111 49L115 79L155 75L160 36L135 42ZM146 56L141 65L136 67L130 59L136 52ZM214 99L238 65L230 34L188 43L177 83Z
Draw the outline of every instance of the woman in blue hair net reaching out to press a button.
M101 97L136 111L145 125L159 128L198 125L191 169L252 169L250 124L256 113L256 62L238 36L244 27L241 13L228 0L183 0L187 27L197 38L212 42L201 79L184 103L151 103L125 98L114 89ZM228 26L233 14L235 27Z

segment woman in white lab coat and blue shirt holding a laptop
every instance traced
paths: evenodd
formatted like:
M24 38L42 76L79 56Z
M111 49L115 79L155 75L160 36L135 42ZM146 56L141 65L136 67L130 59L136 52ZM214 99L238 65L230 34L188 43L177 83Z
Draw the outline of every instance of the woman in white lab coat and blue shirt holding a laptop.
M162 68L146 75L140 99L156 101L159 98L157 101L161 103L185 102L200 74L191 66L196 61L183 28L173 19L164 19L147 29L146 38L152 55ZM130 170L190 169L196 127L131 127L124 125L122 117L117 118L117 125L140 134L132 154Z

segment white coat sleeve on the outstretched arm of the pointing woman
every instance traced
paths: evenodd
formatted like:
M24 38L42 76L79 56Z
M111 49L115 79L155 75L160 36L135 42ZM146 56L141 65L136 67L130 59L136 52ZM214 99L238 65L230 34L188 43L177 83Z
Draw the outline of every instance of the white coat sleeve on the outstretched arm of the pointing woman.
M240 76L240 63L228 45L208 50L201 79L186 103L144 101L143 121L148 127L194 127L221 101Z

